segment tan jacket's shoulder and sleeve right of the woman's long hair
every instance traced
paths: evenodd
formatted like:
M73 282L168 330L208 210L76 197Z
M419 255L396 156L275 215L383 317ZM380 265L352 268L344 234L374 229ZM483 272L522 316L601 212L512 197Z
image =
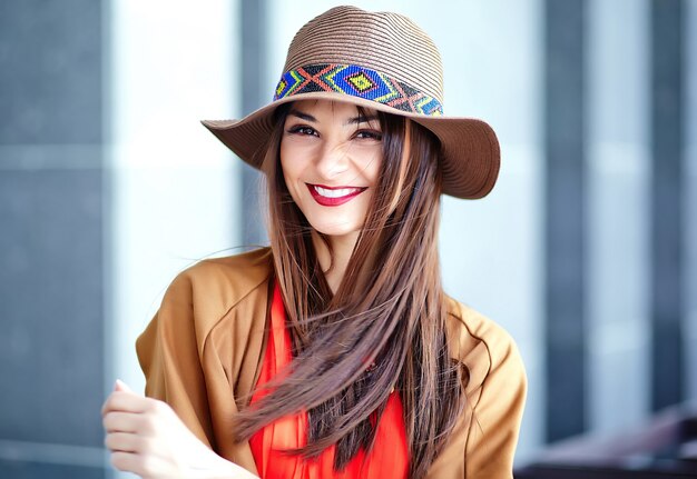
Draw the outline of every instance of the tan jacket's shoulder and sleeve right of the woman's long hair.
M451 356L467 370L463 426L430 477L511 478L528 380L516 341L501 326L451 298ZM451 468L463 457L463 469Z

